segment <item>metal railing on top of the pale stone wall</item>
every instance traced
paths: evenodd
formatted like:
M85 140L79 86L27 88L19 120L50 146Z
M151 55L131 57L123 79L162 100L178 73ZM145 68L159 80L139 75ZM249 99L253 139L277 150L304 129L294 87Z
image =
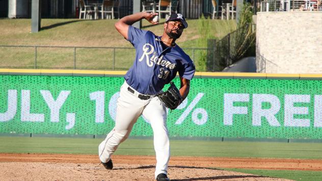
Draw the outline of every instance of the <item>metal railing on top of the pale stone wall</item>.
M322 11L321 0L265 0L260 11Z

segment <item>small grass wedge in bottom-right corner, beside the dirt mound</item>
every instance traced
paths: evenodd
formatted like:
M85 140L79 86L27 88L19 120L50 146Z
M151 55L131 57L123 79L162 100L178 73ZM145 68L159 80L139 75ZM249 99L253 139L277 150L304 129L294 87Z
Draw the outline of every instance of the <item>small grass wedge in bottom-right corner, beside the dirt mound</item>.
M287 178L301 181L322 180L322 171L300 171L300 170L253 170L253 169L224 169L236 172L250 173L255 175Z

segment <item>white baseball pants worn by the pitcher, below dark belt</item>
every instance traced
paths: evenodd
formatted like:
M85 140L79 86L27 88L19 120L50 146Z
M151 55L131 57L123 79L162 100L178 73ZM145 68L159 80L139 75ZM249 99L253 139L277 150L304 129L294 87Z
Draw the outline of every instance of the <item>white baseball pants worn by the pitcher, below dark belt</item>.
M119 144L129 136L139 116L143 115L150 121L153 130L153 144L156 155L155 177L160 173L167 174L170 143L166 124L166 107L158 97L143 100L138 97L139 92L131 93L128 91L128 87L128 84L124 81L120 89L120 97L117 100L115 127L99 144L99 159L101 162L108 162Z

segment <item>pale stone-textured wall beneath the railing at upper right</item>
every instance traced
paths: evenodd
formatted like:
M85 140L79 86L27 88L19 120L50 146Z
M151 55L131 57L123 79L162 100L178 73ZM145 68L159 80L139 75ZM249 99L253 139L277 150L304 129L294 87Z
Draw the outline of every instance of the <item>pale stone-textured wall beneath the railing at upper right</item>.
M259 12L257 72L322 73L322 12Z

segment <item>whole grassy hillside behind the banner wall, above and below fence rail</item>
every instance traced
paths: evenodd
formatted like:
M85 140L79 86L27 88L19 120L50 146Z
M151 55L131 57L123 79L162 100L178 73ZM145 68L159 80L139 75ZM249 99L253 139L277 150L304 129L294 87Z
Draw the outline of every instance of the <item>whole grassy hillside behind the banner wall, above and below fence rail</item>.
M115 30L117 20L79 20L79 19L42 19L42 30L31 32L31 19L0 19L0 45L29 46L85 46L85 47L130 47L132 45ZM207 20L210 32L219 39L236 29L233 20ZM165 19L158 25L142 21L144 30L161 36ZM198 31L198 19L187 20L189 28L185 29L177 44L182 48L207 48L198 42L202 36ZM186 53L198 60L201 50L186 50ZM205 50L203 50L205 51ZM113 63L113 49L76 49L76 69L126 70L135 56L134 49L116 49ZM73 48L37 49L37 68L72 69L74 68ZM0 47L0 66L16 68L35 67L35 48L33 47ZM198 66L197 66L198 70Z

